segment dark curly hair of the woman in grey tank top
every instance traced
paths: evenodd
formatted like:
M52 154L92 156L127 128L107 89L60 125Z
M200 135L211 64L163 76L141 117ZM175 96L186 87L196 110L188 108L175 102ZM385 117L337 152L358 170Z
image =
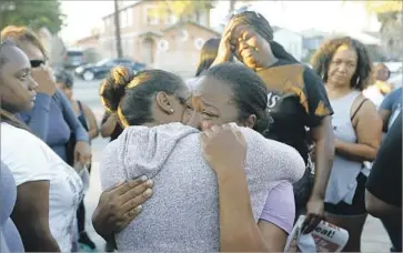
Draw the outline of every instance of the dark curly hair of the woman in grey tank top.
M354 49L357 55L356 70L350 81L351 88L362 91L369 85L371 80L372 61L365 45L360 41L351 37L330 39L312 57L311 65L325 83L332 58L335 51L344 44Z

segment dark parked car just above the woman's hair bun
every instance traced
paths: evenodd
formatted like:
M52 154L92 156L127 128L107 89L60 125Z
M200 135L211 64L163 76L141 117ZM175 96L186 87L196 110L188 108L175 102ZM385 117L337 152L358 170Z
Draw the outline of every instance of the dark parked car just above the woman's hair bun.
M107 77L109 71L117 65L124 65L134 72L145 69L145 64L140 62L134 62L129 59L105 59L99 61L95 64L84 64L77 68L75 75L82 78L85 81L102 79Z

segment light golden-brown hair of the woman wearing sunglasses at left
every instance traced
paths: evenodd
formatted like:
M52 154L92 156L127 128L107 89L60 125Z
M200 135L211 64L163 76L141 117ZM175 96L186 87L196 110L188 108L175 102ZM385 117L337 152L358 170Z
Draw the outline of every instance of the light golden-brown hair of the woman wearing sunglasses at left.
M1 31L0 38L1 41L8 39L14 43L18 43L18 41L32 43L43 53L43 57L48 59L48 53L42 42L38 39L37 34L27 27L8 26Z

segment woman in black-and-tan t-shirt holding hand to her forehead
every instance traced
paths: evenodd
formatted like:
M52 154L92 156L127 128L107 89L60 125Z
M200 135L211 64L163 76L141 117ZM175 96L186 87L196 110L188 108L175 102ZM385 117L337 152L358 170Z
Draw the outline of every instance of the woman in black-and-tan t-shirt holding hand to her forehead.
M323 217L323 199L334 155L333 112L321 79L273 39L273 29L263 16L254 11L236 13L223 32L213 65L228 61L233 53L264 81L274 121L270 138L295 148L306 164L306 173L294 185L294 194L296 217L306 208L303 229L308 233ZM315 146L314 179L309 158L310 138Z

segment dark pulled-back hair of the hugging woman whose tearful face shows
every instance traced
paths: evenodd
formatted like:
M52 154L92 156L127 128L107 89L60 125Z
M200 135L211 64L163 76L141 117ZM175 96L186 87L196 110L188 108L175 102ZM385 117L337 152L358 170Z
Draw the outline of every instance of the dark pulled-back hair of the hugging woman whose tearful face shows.
M251 69L225 62L208 69L202 77L214 78L231 87L238 107L238 120L256 115L253 130L268 136L272 118L268 109L268 89L264 81Z

